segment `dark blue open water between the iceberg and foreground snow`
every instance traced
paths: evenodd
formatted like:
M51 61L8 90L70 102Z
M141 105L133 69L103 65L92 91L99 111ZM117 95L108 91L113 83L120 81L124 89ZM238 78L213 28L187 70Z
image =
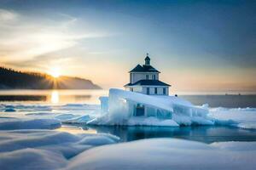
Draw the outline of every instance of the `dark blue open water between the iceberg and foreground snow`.
M121 141L149 138L189 139L204 143L224 141L256 141L256 131L236 127L96 127L97 133L111 133Z

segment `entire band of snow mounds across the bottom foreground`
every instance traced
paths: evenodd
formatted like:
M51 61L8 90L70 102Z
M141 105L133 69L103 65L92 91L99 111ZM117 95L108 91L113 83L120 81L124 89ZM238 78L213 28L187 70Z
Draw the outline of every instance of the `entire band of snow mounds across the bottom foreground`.
M180 139L143 139L114 144L119 139L109 134L74 135L51 130L1 131L0 139L0 167L5 170L256 167L256 142L201 144Z

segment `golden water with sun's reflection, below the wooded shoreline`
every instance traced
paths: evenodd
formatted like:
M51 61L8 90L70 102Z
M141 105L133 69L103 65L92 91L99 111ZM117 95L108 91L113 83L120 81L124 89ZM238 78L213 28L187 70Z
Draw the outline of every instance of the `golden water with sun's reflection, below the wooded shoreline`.
M86 103L95 105L100 103L100 96L106 95L108 95L108 90L0 90L0 102Z

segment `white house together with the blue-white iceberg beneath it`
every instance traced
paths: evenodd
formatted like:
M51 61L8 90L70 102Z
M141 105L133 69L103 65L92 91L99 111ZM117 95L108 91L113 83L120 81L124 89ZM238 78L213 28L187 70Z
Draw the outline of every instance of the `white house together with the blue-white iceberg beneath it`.
M150 65L148 54L145 64L137 65L129 73L130 82L125 88L131 92L109 89L108 97L100 98L102 116L88 124L170 127L214 124L207 117L207 108L169 95L170 85L160 82L160 71Z

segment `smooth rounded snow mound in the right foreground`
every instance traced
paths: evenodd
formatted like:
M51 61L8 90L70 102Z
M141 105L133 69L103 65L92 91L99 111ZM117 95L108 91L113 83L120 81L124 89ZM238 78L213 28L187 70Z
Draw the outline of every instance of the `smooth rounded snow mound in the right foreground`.
M143 139L86 150L75 156L67 169L255 169L255 156L255 142L201 144Z

